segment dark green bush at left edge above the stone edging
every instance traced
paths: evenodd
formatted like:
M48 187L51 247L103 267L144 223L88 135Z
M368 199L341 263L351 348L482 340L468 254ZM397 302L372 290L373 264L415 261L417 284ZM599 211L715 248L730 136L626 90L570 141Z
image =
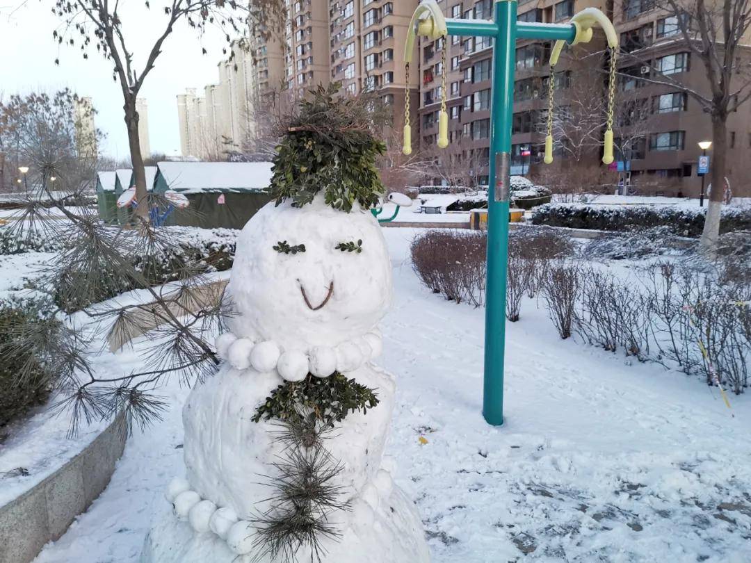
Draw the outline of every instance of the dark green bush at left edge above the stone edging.
M34 322L32 313L0 303L0 441L2 429L41 405L50 394L50 384L32 351L15 345L17 331Z

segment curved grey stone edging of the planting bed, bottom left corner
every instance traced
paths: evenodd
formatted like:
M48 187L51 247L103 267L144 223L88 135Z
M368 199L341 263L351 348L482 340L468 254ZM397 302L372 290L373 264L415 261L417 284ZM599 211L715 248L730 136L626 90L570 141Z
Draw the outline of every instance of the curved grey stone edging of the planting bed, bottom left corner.
M74 458L0 507L0 563L29 563L57 540L110 483L125 449L118 418Z

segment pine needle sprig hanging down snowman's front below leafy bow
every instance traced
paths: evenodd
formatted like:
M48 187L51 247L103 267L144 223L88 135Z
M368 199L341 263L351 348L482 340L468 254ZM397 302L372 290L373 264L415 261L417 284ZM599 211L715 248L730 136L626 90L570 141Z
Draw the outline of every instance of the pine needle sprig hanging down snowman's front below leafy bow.
M275 435L275 440L285 444L285 456L272 464L276 477L267 477L267 484L275 489L266 499L272 507L252 520L257 534L253 541L256 560L270 556L294 563L300 549L309 549L310 560L321 561L325 555L321 540L336 540L341 535L330 518L349 508L342 500L344 487L335 483L343 465L324 447L324 435L314 430L315 420L309 421L281 423L282 431ZM301 431L309 437L311 430L315 435L311 445L298 441Z

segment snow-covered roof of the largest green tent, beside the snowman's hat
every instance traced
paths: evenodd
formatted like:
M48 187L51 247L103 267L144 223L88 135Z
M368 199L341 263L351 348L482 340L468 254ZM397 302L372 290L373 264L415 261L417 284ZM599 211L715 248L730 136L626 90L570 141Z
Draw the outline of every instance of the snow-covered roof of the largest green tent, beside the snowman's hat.
M271 182L270 162L159 162L170 189L198 192L216 189L262 190Z

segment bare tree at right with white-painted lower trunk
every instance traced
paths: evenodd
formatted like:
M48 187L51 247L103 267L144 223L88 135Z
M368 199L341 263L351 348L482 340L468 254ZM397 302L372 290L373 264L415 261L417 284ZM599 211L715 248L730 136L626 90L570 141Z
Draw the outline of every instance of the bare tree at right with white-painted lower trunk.
M656 8L670 18L675 35L692 58L704 69L706 88L684 82L685 74L673 74L674 68L660 68L656 61L631 55L651 66L648 83L673 86L686 92L710 115L712 122L713 186L725 185L728 117L751 98L751 63L743 50L751 26L751 0L658 0ZM710 192L701 248L710 256L716 251L722 189Z

